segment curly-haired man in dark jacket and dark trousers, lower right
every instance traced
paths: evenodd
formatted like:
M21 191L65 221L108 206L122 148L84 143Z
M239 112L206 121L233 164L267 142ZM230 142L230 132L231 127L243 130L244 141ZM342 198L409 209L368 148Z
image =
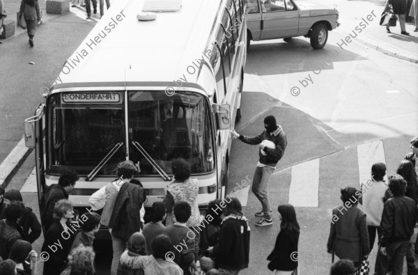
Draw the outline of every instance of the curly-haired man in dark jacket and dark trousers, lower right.
M385 202L383 208L376 273L386 275L390 266L392 275L401 275L403 258L417 223L418 209L415 201L405 196L406 181L401 175L391 175L388 180L394 196Z

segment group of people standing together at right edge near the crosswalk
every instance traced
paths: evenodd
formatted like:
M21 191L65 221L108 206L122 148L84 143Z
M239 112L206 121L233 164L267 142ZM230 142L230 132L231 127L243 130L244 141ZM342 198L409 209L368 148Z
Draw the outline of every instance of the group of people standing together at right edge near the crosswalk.
M410 143L412 152L401 161L396 173L387 177L387 182L385 164L376 163L371 167L371 179L362 182L359 189L341 189L343 205L332 210L327 242L328 253L340 259L332 266L332 275L359 274L359 269L368 265L376 233L374 274L401 275L404 258L408 275L418 274L418 137Z

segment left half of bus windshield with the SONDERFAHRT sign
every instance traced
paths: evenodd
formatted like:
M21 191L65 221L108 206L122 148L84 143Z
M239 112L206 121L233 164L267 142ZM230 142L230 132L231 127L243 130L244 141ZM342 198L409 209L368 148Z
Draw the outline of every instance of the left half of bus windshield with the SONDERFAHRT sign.
M123 93L62 93L49 100L48 167L90 173L117 143L125 143ZM115 175L125 160L118 148L98 175Z

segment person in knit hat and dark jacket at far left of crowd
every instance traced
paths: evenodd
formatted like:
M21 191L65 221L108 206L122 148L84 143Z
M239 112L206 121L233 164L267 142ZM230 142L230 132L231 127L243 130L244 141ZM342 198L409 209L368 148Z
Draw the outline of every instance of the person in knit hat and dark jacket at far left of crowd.
M6 191L4 194L4 198L6 198L9 201L20 201L23 202L22 194L20 194L19 190L16 189L10 189ZM30 207L24 206L22 217L20 218L20 221L18 222L20 226L22 226L22 239L24 239L27 242L30 242L33 244L33 242L38 239L40 236L40 233L42 233L42 227L40 226L40 223L38 221L38 218L36 217L36 214L33 213L32 209ZM31 233L29 233L29 230Z

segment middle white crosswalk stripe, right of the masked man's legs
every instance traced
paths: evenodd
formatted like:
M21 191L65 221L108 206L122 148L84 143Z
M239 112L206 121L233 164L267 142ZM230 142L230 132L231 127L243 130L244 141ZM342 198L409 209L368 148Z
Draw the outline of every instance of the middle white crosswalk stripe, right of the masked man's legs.
M289 203L298 207L318 207L319 159L292 167Z

